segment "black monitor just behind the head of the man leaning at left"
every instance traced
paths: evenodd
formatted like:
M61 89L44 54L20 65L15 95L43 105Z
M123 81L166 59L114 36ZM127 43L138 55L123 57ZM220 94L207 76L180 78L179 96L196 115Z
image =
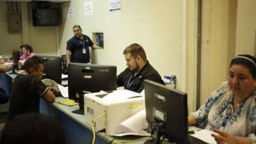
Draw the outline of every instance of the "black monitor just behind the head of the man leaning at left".
M60 56L38 56L44 60L43 78L52 79L61 84L62 62Z

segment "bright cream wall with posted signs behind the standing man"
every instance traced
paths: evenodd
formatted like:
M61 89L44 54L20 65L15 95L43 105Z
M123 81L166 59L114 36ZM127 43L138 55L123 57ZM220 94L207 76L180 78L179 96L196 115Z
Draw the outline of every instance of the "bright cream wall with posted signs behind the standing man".
M84 2L62 4L65 12L59 32L60 54L65 54L66 42L73 36L72 26L80 24L91 38L93 32L104 33L104 50L92 51L95 63L116 65L120 73L126 67L122 52L136 42L144 47L162 77L175 74L177 88L186 90L186 1L122 1L122 10L111 13L108 1L94 0L93 15L88 16L84 15ZM67 18L68 6L75 13Z

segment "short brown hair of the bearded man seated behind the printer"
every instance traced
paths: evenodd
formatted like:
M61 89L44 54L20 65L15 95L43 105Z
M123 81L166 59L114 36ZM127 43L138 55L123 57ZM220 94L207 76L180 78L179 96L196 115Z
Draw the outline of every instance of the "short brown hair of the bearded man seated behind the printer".
M134 44L131 44L128 47L126 47L123 54L127 54L127 53L131 53L131 56L133 58L140 56L143 61L147 61L146 53L145 53L143 47L141 47L141 45L139 45L139 44L134 43Z

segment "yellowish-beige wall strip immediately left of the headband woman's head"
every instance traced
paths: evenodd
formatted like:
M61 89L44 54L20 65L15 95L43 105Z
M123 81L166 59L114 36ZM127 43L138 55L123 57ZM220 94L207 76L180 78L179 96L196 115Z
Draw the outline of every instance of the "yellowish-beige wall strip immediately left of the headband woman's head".
M236 49L236 8L236 0L202 3L201 104L227 80L229 61Z

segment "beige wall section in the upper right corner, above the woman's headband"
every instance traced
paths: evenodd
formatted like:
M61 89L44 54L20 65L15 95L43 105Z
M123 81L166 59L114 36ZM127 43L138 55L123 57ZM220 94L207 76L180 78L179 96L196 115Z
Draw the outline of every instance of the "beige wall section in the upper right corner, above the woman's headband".
M237 0L236 55L254 54L256 1Z

